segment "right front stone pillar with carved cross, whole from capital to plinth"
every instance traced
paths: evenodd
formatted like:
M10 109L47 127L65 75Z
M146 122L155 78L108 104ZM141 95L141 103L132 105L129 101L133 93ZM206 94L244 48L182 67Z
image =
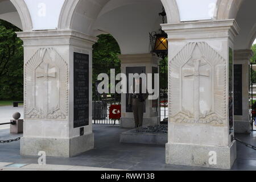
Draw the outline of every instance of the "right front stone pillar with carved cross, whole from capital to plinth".
M166 163L230 169L236 160L232 49L237 23L217 20L162 27L169 43Z

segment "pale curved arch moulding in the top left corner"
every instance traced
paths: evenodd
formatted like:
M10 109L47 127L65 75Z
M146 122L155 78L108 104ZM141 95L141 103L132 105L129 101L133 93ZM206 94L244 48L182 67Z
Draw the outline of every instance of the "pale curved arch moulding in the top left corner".
M22 22L23 31L32 30L32 20L27 5L23 0L10 0L13 3L15 9L18 11L20 20Z

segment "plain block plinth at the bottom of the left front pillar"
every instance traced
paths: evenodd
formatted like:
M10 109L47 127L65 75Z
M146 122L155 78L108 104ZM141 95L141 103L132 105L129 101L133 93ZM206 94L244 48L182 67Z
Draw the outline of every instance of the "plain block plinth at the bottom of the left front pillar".
M94 148L94 134L75 138L30 138L20 140L20 155L37 156L45 151L47 156L72 157Z

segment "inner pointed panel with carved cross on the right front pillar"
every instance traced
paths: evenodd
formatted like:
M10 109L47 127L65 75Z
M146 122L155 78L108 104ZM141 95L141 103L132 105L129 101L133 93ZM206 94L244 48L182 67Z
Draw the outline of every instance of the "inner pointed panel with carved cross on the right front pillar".
M199 121L212 111L212 67L196 46L182 68L182 110Z

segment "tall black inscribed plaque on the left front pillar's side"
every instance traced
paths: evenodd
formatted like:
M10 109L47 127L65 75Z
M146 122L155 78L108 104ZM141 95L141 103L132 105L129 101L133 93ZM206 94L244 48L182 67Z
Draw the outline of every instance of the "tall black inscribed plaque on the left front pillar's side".
M89 125L89 55L74 52L74 128Z

